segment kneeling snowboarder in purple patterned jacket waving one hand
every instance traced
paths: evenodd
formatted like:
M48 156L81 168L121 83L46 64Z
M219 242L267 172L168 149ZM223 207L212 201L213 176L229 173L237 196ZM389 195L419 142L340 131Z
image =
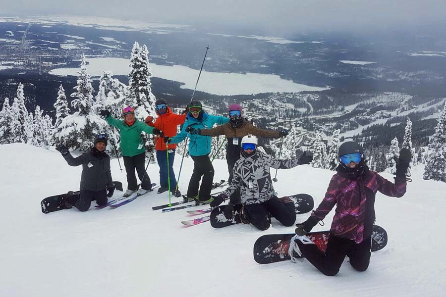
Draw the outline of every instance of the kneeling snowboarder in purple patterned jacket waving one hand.
M395 159L394 183L369 170L363 148L355 142L343 143L338 157L340 164L324 200L305 222L296 225L295 230L298 253L329 276L339 272L345 256L349 257L354 269L365 271L368 268L375 223L375 195L378 191L390 197L402 197L406 193L406 172L411 154L402 148L399 158ZM324 253L305 234L323 220L335 204L335 216Z

